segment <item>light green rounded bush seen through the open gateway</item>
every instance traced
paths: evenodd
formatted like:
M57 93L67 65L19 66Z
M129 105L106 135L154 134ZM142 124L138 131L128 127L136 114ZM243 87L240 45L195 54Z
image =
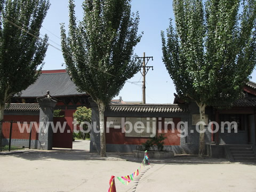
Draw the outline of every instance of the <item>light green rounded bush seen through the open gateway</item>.
M92 110L87 107L78 107L73 114L73 118L76 119L76 125L82 124L83 122L88 122L91 124ZM83 124L83 130L87 131L87 124ZM83 133L79 131L76 133L76 138L85 140L86 138L90 138L90 133Z

